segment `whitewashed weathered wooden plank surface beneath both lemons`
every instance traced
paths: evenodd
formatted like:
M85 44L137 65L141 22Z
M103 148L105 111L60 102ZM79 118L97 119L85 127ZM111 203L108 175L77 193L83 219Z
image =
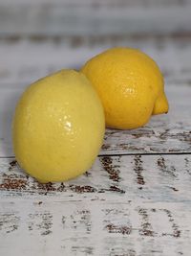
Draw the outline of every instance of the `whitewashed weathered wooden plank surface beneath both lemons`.
M9 17L11 2L3 2L0 13L4 10ZM24 1L17 2L28 13ZM88 11L93 2L86 6ZM22 25L19 10L18 5L13 31L8 18L0 27L0 255L190 256L191 34L106 36L103 28L97 36L74 36L58 26L56 35L52 27L39 35L33 34L32 19L26 22L26 35L25 26L16 31ZM34 5L32 12L38 17L36 10ZM58 13L59 8L52 11ZM147 24L153 17L147 9L141 12ZM187 19L181 15L180 24L186 25ZM53 19L53 28L56 22ZM167 32L175 30L170 24L164 28ZM96 24L92 26L96 30ZM17 99L30 82L57 69L78 68L114 45L138 47L157 60L165 77L169 113L153 117L144 128L107 129L96 163L85 175L39 184L19 168L12 152L11 118Z

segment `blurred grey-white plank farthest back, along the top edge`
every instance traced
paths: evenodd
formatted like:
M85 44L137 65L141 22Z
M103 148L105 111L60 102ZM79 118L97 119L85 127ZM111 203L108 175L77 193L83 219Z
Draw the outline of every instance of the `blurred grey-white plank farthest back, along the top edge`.
M69 1L67 1L69 3ZM0 35L126 35L190 32L189 1L111 5L0 3ZM143 1L141 1L143 2ZM131 3L134 3L131 1Z

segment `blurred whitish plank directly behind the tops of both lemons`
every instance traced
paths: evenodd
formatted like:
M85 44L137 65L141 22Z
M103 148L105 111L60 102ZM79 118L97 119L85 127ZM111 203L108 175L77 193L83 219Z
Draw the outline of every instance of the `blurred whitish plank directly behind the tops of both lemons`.
M190 42L191 35L60 35L0 39L0 83L24 87L62 68L79 69L87 59L108 48L125 46L138 48L154 58L166 83L190 84Z

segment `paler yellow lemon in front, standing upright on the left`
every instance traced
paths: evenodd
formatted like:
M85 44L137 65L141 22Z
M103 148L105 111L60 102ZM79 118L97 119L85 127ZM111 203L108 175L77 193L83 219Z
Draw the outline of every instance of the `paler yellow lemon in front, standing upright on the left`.
M61 70L23 93L13 119L13 150L19 165L40 182L64 181L92 166L104 129L91 82Z

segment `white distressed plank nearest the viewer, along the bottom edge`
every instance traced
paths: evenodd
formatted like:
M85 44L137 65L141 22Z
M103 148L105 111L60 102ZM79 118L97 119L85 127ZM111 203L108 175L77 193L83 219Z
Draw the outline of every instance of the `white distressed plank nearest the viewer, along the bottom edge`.
M190 253L191 219L187 205L39 202L3 203L1 255Z

